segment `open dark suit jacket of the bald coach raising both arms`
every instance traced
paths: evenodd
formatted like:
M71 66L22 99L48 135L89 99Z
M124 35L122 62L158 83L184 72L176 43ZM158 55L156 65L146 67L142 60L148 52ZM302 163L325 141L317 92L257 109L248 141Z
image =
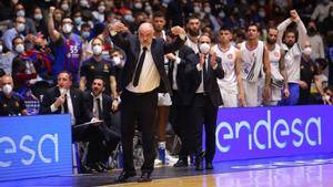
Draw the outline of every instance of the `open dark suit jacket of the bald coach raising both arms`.
M122 79L121 79L121 90L123 90L133 79L133 74L135 71L137 63L139 61L140 55L140 41L138 35L133 35L128 33L124 34L115 34L111 37L112 41L115 45L121 48L127 54L127 62L123 67ZM151 53L153 61L157 65L157 69L161 76L161 84L165 89L167 92L172 94L171 86L168 80L168 75L164 69L164 54L176 51L180 46L184 44L185 41L181 40L179 37L172 43L164 42L163 39L157 38L153 39L151 43Z

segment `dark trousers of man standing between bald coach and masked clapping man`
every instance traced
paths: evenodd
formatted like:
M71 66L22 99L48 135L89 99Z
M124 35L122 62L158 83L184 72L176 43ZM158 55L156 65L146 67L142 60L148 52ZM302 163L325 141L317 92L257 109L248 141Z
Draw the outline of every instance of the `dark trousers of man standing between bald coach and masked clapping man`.
M181 96L176 91L173 91L172 105L170 111L170 123L174 133L180 137L182 146L179 153L179 158L185 159L188 155L193 153L190 147L190 136L194 135L193 126L188 120L189 106L183 105ZM190 132L193 133L190 133Z

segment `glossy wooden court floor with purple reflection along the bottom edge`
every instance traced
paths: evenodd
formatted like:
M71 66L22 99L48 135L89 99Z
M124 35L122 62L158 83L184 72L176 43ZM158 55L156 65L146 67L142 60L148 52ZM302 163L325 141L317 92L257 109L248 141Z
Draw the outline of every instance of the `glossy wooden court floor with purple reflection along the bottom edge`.
M333 187L333 164L127 183L109 187Z

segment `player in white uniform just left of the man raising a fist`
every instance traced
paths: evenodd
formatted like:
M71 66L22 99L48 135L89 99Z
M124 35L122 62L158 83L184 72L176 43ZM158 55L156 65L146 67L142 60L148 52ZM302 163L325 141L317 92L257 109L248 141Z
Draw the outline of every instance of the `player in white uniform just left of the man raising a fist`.
M265 105L275 106L278 102L281 101L282 94L281 90L283 90L283 96L289 97L289 86L287 86L287 76L286 70L284 65L284 51L276 43L278 40L278 29L269 28L268 29L268 38L265 48L269 51L270 62L271 62L271 98L264 103Z

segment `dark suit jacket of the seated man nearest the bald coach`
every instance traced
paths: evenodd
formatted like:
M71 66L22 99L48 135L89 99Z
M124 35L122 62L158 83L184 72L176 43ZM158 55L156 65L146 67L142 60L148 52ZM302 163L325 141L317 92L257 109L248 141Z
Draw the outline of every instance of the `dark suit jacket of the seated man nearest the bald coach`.
M93 110L93 96L91 92L83 93L84 105L85 110L88 110L89 116L92 117L92 110ZM102 94L102 111L103 111L103 121L108 127L111 126L111 106L112 106L112 98L107 94Z

